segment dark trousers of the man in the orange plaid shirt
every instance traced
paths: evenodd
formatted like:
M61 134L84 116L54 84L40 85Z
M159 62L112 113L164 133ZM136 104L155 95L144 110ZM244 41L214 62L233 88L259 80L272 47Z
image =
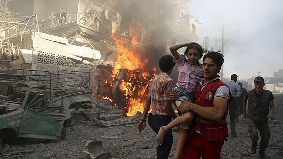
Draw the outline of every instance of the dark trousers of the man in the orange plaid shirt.
M166 126L171 122L169 116L149 115L148 123L154 132L158 133L160 127ZM162 145L157 146L157 159L168 159L173 143L172 130L169 130L163 140Z

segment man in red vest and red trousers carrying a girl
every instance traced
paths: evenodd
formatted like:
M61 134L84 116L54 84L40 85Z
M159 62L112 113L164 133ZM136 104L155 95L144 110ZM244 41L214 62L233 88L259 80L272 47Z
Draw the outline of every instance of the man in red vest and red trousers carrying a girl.
M220 52L209 52L203 57L203 79L194 91L194 103L183 100L182 113L193 111L195 118L180 159L220 159L224 140L227 141L226 116L230 92L228 86L217 74L224 62ZM170 98L180 97L176 92Z

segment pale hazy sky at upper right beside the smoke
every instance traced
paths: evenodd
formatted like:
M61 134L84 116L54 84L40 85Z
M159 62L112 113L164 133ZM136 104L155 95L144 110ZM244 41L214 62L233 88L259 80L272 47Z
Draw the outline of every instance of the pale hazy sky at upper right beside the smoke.
M224 78L273 77L283 69L283 0L189 0L189 12L200 22L214 50L222 48Z

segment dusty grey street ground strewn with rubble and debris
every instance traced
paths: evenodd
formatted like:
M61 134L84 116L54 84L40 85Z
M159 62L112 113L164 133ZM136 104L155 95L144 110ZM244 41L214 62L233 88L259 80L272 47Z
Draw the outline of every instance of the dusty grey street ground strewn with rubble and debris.
M275 108L275 117L280 123L270 123L271 139L266 154L268 159L283 159L283 95L275 95ZM110 121L109 118L108 120ZM64 140L17 139L9 144L10 150L0 155L0 158L86 159L88 155L83 152L83 147L87 140L103 141L104 150L108 151L114 159L155 158L156 134L148 125L143 132L138 132L137 128L132 126L121 124L115 127L98 127L91 121L79 121L74 127L66 127L67 136ZM249 154L251 142L247 133L247 120L241 116L236 128L238 137L229 138L228 142L224 143L222 159L258 159L257 154ZM101 136L117 138L101 138ZM177 136L178 131L174 131L170 158L174 154ZM27 150L34 151L25 152Z

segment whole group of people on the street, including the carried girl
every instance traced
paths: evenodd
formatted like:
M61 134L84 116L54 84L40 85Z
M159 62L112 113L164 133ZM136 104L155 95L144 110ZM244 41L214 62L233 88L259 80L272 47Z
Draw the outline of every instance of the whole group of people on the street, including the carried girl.
M183 47L186 47L184 55L178 53ZM223 54L206 52L194 42L171 46L170 52L173 56L165 55L159 60L161 73L149 84L148 98L137 125L139 131L144 130L149 115L149 126L157 133L157 159L169 157L174 127L180 127L174 159L220 159L224 141L237 137L236 122L242 114L249 121L251 153L256 153L259 131L258 155L266 159L265 149L270 138L268 119L274 115L274 97L271 91L263 89L264 79L256 77L255 89L250 91L242 83L236 83L236 74L226 83L221 81L218 73L224 63ZM203 53L206 54L203 56ZM175 65L179 73L174 87L169 75ZM179 116L175 114L175 107Z

